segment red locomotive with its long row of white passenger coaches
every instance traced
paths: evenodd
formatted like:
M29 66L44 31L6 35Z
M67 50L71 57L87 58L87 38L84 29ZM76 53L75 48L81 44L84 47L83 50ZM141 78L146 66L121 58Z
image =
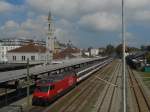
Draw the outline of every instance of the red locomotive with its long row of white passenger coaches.
M38 80L33 92L32 105L49 105L111 61L112 58L109 58L80 70L79 72L68 71L60 74L52 74Z

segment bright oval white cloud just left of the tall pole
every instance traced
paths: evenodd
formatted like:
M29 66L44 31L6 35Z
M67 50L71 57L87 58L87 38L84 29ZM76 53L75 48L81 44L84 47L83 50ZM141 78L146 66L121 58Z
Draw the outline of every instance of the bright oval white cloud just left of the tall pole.
M79 24L97 31L116 31L120 28L118 15L108 13L95 13L83 16Z

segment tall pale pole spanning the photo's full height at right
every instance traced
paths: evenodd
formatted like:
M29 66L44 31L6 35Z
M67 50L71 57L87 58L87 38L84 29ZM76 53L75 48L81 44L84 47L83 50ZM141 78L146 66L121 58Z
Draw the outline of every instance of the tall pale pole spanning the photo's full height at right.
M124 20L124 13L125 13L125 7L124 7L124 0L122 0L122 75L123 75L123 112L126 112L126 70L125 70L125 20Z

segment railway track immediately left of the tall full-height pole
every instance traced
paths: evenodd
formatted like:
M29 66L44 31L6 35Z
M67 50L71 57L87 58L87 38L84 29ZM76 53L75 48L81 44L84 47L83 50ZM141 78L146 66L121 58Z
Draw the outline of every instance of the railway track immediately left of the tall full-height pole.
M116 106L113 107L114 100L115 100L115 92L118 88L116 88L117 86L117 81L118 81L118 77L119 77L119 72L120 72L120 66L121 64L119 63L114 72L112 73L112 77L110 78L109 82L112 83L111 84L107 84L105 86L105 89L103 91L103 93L101 95L99 95L99 98L97 100L97 103L95 105L95 108L93 109L93 112L112 112L112 109L115 109ZM114 111L114 110L113 110ZM115 112L117 111L117 109L115 110Z

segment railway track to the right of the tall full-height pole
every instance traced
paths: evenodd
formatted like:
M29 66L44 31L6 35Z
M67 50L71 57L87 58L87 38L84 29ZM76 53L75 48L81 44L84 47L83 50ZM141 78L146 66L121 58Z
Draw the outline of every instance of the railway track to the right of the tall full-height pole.
M136 112L150 112L150 104L134 72L128 67L129 84L135 99Z

